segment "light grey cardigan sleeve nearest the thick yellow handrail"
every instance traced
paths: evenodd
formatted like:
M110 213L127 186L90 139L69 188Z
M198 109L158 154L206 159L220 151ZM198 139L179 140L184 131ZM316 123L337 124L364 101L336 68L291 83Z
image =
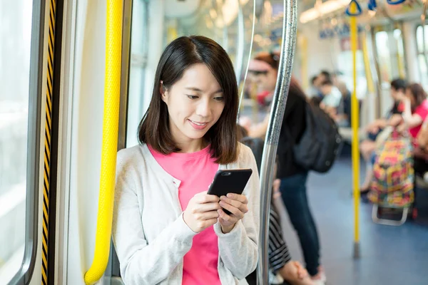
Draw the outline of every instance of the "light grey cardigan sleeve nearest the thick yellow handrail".
M136 172L126 157L118 153L113 210L113 243L127 285L158 284L170 276L192 247L195 236L180 215L148 244L141 222L138 195L133 177Z

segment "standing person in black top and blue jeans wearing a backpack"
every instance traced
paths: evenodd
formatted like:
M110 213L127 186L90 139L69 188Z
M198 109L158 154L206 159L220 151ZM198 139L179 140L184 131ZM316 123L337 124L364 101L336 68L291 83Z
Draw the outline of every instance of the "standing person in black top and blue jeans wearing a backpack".
M259 53L250 63L250 71L259 86L271 93L275 90L279 66L279 56L272 53ZM305 93L292 78L287 97L284 118L278 143L277 177L280 179L280 192L290 221L300 239L306 269L314 284L324 284L325 274L320 266L320 242L317 227L310 212L306 195L307 170L302 169L292 159L292 143L299 142L305 131ZM248 135L254 138L264 137L269 118L249 128ZM289 137L289 134L292 138Z

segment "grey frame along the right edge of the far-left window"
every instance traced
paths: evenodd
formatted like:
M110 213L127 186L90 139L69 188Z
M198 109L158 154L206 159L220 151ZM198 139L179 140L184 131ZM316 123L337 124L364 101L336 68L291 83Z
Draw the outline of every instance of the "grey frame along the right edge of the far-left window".
M19 271L9 284L29 284L37 258L39 234L39 162L41 145L41 99L44 69L45 1L33 0L29 80L29 115L26 162L25 249Z

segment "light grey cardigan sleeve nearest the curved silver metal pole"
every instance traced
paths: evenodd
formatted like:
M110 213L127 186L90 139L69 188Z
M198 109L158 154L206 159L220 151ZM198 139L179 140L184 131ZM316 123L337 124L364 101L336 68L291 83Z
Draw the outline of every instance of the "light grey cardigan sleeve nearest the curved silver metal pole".
M214 225L218 235L219 259L233 276L244 279L255 270L258 263L258 235L260 217L260 182L258 167L253 152L249 147L240 145L238 165L251 168L253 175L243 194L248 198L248 213L231 232L223 234L220 224Z

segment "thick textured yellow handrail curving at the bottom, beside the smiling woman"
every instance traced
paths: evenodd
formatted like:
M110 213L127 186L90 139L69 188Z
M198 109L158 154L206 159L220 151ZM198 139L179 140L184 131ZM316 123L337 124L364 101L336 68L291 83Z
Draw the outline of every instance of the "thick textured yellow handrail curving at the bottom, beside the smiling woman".
M123 1L107 0L106 78L104 82L100 195L95 253L91 268L85 274L86 284L93 284L103 276L110 253L121 93L122 14Z

